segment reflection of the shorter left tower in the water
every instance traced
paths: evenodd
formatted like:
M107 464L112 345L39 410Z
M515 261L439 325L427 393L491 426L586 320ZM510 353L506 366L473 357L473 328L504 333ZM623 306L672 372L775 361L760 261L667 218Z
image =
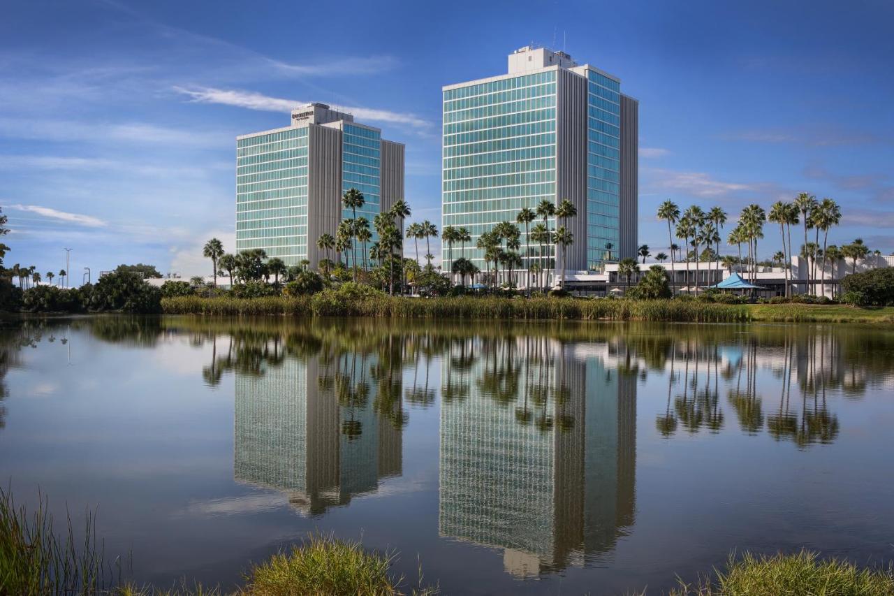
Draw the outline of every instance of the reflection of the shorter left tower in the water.
M400 475L401 430L374 412L361 367L367 362L337 370L313 356L237 372L236 480L287 492L303 515L320 515ZM353 397L340 401L340 391Z

